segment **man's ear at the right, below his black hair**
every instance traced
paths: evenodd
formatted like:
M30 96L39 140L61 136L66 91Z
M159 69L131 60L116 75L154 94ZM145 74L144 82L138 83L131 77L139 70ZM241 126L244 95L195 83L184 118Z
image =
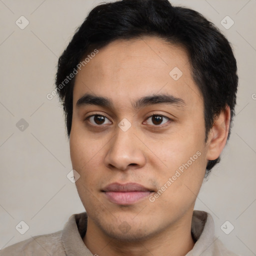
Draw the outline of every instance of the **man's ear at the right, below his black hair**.
M230 125L230 107L226 106L220 114L215 117L212 128L208 133L206 145L208 147L207 160L215 160L223 150Z

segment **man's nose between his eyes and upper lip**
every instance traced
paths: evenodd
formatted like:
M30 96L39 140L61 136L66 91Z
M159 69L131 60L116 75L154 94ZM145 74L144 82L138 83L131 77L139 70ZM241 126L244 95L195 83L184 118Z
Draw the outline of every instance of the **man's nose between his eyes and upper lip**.
M132 126L126 131L117 126L116 133L109 142L104 159L108 168L126 170L139 168L145 164L143 145L134 134Z

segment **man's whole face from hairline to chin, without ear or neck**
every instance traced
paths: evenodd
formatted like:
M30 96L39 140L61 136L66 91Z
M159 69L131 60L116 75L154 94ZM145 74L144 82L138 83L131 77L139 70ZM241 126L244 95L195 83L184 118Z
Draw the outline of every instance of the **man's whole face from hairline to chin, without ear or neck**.
M76 75L70 132L88 225L132 240L191 216L204 139L203 100L181 46L143 37L99 49Z

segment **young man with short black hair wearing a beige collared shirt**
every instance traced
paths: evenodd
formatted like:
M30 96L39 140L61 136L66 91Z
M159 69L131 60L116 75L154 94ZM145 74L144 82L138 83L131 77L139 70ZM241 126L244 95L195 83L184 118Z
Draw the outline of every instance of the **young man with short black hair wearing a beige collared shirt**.
M193 210L236 101L236 61L212 23L167 0L100 4L60 56L56 91L86 212L0 255L235 255Z

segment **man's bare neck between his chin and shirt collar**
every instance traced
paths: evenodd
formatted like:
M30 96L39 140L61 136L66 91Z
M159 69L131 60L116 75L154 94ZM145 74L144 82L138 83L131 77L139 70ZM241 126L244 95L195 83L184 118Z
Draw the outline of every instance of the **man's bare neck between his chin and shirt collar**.
M192 212L187 214L161 232L132 242L107 236L88 217L83 242L94 255L99 256L184 256L194 246L191 236Z

